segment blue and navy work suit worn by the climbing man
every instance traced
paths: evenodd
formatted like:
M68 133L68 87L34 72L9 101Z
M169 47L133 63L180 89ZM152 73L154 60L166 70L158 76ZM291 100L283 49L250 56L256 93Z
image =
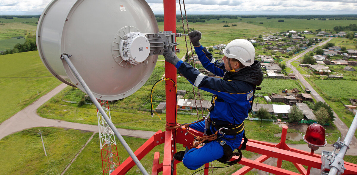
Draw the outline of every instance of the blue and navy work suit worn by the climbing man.
M214 109L210 113L211 119L241 124L248 117L248 110L251 108L253 99L253 88L262 82L263 72L260 62L255 61L251 66L232 73L226 71L225 64L215 60L212 54L202 45L195 47L195 51L203 67L211 73L223 77L223 79L208 77L181 60L175 67L197 88L217 95ZM190 125L191 128L200 132L203 132L204 126L204 121ZM210 129L212 133L215 133L220 128L214 128L211 125ZM243 132L236 135L233 140L225 139L235 137L228 135L225 135L222 139L234 150L240 146L242 136ZM223 147L218 142L212 141L199 149L190 149L183 157L182 163L188 169L195 170L205 163L223 157L223 155Z

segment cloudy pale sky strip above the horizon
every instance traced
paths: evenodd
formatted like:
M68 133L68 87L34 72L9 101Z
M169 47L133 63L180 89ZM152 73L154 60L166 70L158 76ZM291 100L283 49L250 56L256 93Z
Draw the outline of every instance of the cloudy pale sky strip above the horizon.
M183 9L182 0L180 1ZM0 0L0 15L40 15L50 2L51 0ZM146 0L146 2L154 14L164 13L163 0ZM357 0L186 0L185 7L187 14L357 14ZM176 0L176 14L180 14L178 0Z

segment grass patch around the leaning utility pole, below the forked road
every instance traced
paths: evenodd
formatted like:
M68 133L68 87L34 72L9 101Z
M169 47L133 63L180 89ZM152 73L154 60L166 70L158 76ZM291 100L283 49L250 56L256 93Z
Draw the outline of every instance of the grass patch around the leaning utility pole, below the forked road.
M47 157L37 134L39 129ZM72 129L40 127L6 136L0 140L1 174L61 174L91 135Z

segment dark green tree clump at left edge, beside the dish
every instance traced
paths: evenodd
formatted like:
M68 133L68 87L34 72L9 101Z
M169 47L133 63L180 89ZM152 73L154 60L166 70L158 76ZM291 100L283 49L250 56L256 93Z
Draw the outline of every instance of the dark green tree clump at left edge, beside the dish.
M2 55L27 52L27 51L37 51L35 36L27 35L24 44L17 43L15 44L13 49L2 52Z

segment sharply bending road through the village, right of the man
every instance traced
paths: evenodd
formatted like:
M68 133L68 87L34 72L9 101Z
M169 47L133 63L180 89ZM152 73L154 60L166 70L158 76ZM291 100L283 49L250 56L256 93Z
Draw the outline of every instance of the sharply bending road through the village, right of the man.
M302 52L300 55L296 56L295 58L288 60L287 61L287 66L289 68L291 68L296 76L297 79L300 80L300 82L302 83L302 85L304 85L306 88L311 90L311 95L316 99L316 101L322 101L325 102L325 100L323 100L323 98L316 92L315 89L312 88L312 86L305 80L305 78L301 75L301 73L291 65L291 63L302 57L303 55L305 55L306 53L313 51L314 48L316 48L317 46L322 46L323 44L326 44L328 41L330 41L332 38L327 39L326 41L316 45L316 46L312 46L311 48L306 49L304 52ZM345 123L343 123L341 121L341 119L337 116L337 114L335 113L335 111L333 111L333 115L335 116L335 121L333 122L337 128L340 130L341 132L341 140L343 140L348 132L348 127L346 126ZM352 138L351 144L350 144L351 148L356 148L357 147L357 139L356 137ZM351 151L349 151L351 152Z

